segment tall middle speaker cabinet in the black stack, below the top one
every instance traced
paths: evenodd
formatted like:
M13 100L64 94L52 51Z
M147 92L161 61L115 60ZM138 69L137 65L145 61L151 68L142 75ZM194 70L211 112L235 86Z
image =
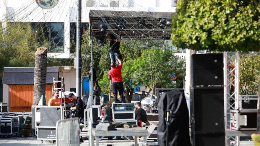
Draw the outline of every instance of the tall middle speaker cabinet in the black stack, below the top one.
M191 88L191 131L224 132L223 87Z

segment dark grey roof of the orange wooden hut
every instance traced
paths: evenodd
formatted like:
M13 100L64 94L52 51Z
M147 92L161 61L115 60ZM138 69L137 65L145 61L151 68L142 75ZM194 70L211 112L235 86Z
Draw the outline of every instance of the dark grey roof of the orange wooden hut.
M46 83L58 79L59 67L47 67ZM2 84L34 84L34 67L5 67Z

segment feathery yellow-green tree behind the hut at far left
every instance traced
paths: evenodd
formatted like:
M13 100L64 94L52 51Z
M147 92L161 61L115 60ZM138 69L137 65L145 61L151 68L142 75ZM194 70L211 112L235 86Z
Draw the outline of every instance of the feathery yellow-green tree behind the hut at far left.
M0 32L0 70L4 67L34 66L34 54L40 43L29 23L7 23Z

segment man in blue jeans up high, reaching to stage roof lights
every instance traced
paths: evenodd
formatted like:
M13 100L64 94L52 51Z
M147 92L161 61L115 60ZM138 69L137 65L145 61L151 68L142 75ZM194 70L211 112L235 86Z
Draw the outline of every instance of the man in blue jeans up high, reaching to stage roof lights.
M115 33L118 33L118 30L115 30ZM109 56L111 59L111 63L119 64L118 60L116 59L116 56L121 55L119 48L120 48L120 39L117 39L115 35L107 35L107 38L110 38L110 52ZM122 58L121 58L122 59Z

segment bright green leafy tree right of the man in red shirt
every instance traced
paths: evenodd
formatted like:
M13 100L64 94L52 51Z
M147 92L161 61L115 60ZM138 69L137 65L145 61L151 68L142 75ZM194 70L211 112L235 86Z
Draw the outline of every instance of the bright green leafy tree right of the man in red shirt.
M155 47L144 50L141 57L136 60L133 81L140 86L149 87L149 93L152 91L152 95L156 87L176 88L180 82L171 81L168 74L174 71L182 80L185 76L184 65L184 61L178 61L170 50Z

